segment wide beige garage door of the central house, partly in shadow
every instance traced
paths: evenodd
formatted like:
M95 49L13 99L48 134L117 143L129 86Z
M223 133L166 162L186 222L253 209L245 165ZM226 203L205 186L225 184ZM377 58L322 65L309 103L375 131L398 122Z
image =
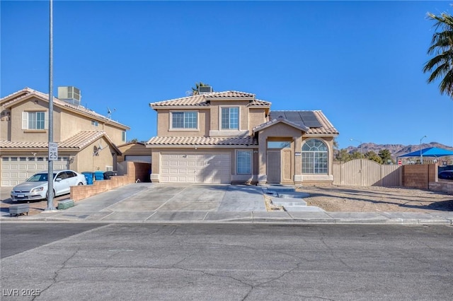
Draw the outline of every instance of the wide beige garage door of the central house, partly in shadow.
M162 183L230 183L229 153L161 155Z

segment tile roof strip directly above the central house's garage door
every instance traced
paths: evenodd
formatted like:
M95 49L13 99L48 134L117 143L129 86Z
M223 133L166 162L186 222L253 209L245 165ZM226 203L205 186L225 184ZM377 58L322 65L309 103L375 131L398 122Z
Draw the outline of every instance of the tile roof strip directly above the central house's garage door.
M147 145L159 146L258 146L258 140L246 137L163 137L149 139Z

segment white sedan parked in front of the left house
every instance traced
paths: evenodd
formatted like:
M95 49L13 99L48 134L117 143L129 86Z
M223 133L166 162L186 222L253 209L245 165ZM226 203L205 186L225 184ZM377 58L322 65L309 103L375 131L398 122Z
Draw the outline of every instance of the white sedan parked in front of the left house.
M11 190L11 201L34 201L47 199L47 172L38 172L25 182L18 184ZM85 176L74 170L54 170L54 196L69 194L69 187L86 185Z

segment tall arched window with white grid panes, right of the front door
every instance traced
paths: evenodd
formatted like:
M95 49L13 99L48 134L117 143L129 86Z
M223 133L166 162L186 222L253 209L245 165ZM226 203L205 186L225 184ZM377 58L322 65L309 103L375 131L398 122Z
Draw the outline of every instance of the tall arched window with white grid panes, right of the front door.
M302 146L302 173L327 174L328 152L323 141L310 139Z

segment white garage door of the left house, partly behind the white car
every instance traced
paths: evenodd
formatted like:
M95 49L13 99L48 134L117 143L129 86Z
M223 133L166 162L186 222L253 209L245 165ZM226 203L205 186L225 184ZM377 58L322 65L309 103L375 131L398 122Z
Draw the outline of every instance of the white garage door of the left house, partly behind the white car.
M54 170L69 168L68 160L68 157L59 157L54 161ZM1 157L1 186L16 186L43 170L47 170L47 158L3 156Z

